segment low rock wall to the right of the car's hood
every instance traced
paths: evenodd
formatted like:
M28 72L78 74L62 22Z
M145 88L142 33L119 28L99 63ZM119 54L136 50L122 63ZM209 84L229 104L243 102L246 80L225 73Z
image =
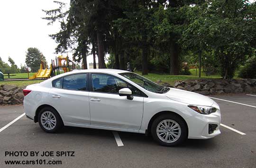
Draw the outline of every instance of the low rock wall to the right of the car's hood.
M221 93L256 93L256 79L185 80L175 82L173 87L204 95Z

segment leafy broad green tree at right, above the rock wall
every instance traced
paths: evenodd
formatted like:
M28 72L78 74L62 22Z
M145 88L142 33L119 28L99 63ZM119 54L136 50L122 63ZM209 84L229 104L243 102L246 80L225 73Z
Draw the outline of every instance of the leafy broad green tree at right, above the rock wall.
M247 0L208 0L202 5L186 6L189 25L181 40L186 49L214 50L221 76L229 79L246 55L253 53L255 17Z

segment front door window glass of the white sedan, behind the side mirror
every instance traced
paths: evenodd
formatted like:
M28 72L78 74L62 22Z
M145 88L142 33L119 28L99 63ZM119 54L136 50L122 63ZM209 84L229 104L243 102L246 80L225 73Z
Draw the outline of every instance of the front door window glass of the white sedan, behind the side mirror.
M118 93L122 88L129 88L133 95L141 96L141 92L125 81L106 74L92 74L92 90L94 92Z

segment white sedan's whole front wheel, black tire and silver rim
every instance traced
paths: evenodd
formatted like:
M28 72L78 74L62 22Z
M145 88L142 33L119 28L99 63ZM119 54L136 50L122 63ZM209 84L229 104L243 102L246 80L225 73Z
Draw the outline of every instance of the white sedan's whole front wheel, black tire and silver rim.
M173 114L164 114L153 121L151 134L159 144L174 146L187 139L187 128L181 117Z

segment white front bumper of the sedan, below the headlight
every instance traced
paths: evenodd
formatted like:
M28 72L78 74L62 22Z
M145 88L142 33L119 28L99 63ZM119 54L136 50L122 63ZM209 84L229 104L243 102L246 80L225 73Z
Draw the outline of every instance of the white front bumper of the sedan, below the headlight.
M209 139L220 134L220 110L211 113L210 115L197 114L187 118L188 138L189 139ZM209 131L209 124L217 125L215 130ZM212 132L212 133L211 133ZM211 134L209 134L211 133Z

